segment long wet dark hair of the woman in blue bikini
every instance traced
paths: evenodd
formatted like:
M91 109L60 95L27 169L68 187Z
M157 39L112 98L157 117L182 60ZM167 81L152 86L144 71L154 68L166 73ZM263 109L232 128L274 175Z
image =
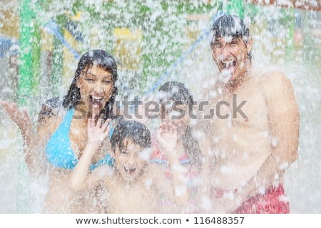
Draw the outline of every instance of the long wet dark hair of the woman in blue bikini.
M76 69L73 82L69 87L67 95L63 98L63 108L71 109L77 105L78 101L81 99L81 93L78 86L76 86L76 83L80 78L81 73L83 73L84 71L88 71L92 66L98 66L100 68L103 68L105 71L111 72L113 76L113 85L115 85L115 82L118 79L118 74L117 64L113 56L103 50L88 51L84 53L78 61L78 67ZM106 102L105 107L101 111L105 120L107 118L112 118L111 115L113 115L113 104L115 103L117 93L117 88L113 86L113 93L111 94L111 98L109 98L109 100Z

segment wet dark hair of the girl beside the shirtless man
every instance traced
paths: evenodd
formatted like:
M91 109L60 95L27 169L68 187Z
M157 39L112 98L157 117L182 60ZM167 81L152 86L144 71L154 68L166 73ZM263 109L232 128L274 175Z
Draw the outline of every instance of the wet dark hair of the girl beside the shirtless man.
M193 95L183 83L178 81L168 81L158 90L161 93L160 103L163 100L172 100L175 103L188 105L190 112L193 111ZM185 114L186 115L186 114ZM183 134L183 146L188 155L190 164L200 168L202 164L200 145L198 140L193 137L190 125L185 129Z

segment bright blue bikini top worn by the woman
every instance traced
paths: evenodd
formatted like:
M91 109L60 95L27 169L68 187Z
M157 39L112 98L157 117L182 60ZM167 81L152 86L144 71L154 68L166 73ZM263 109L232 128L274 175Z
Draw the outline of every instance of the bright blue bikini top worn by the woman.
M69 129L73 118L73 111L73 108L67 111L61 125L59 125L55 133L51 135L51 138L46 145L46 156L51 165L68 170L72 170L78 163L78 159L71 148L69 138ZM111 131L109 132L109 138L111 138L112 134L113 128L111 128ZM113 165L113 159L109 153L107 153L102 160L91 165L90 170L94 170L99 165L105 164Z

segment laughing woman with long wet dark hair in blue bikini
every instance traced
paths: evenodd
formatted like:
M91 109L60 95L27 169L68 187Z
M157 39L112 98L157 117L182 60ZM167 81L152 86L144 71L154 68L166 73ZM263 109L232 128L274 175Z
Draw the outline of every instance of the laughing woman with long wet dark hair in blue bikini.
M69 190L68 181L88 141L88 118L100 116L105 121L113 117L117 79L116 61L109 53L93 50L83 54L67 95L43 105L36 133L26 111L21 113L16 104L1 101L6 113L21 129L24 155L31 175L37 177L49 170L44 212L101 212L98 200L103 196L99 195L98 189L75 193ZM91 170L98 165L112 165L107 145L106 141L101 143L100 152L93 157Z

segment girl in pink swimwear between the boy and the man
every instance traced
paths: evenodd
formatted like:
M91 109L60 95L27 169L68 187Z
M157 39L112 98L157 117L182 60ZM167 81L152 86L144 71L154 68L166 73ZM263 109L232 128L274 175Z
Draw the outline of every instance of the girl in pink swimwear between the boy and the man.
M202 154L199 142L190 127L190 116L193 115L193 96L183 83L168 81L158 90L158 100L161 103L162 123L157 132L157 138L154 138L152 143L151 162L162 165L165 173L171 177L168 159L170 156L177 156L180 167L185 168L190 194L195 201L198 186L196 177L202 166ZM175 128L176 137L172 137L171 140L176 140L176 142L171 151L166 151L168 150L166 149L168 139L164 140L162 134L170 128ZM185 212L196 212L195 202L191 201L189 206ZM170 206L165 205L165 207Z

